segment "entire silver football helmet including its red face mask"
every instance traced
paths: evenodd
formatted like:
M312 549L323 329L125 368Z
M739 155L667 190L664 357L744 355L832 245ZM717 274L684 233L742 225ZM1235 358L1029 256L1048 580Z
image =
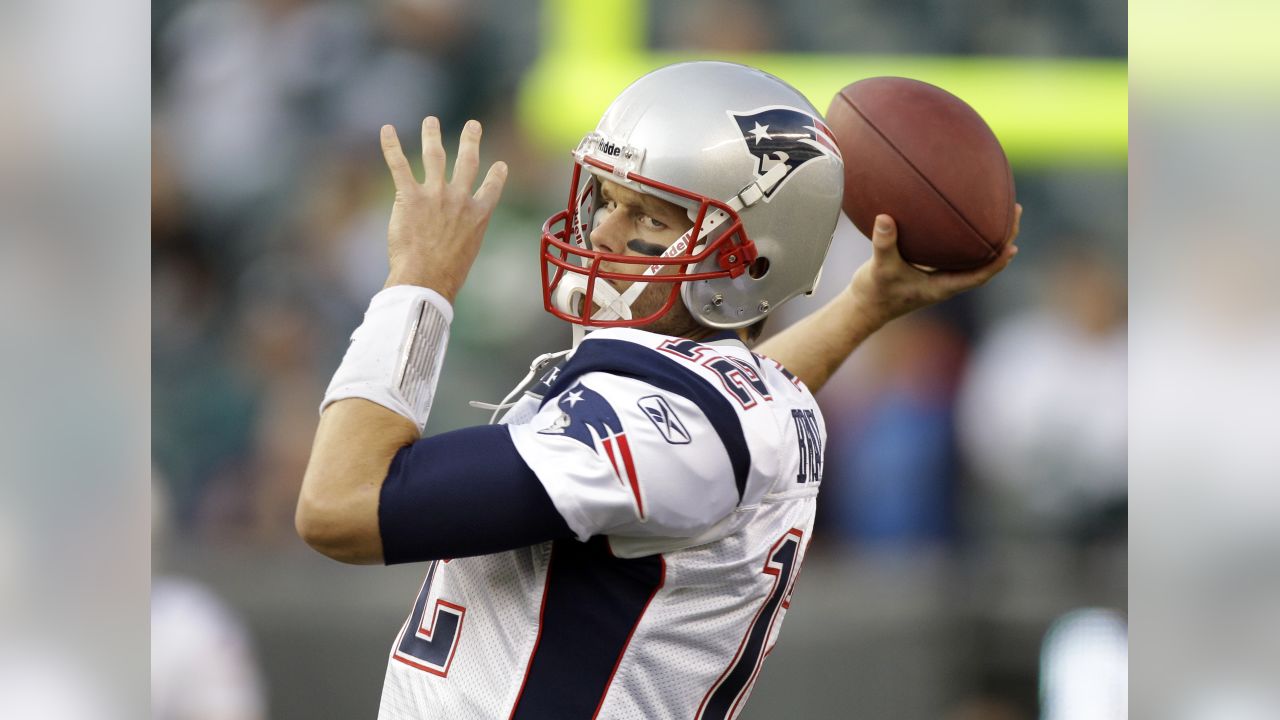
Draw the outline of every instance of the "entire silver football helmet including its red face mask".
M618 95L573 161L568 208L543 225L543 295L553 315L644 325L678 297L698 322L740 328L817 287L844 160L818 110L781 79L732 63L660 68ZM659 258L593 249L602 179L685 208L692 227ZM678 272L659 273L672 265ZM603 279L632 284L620 293ZM666 304L632 316L631 301L649 283L669 287Z

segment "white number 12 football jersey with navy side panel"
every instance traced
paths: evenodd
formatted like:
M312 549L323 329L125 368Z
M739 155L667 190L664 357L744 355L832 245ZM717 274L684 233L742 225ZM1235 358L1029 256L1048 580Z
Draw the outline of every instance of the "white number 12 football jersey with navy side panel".
M431 562L384 720L733 717L813 528L813 395L741 342L591 333L504 421L577 539Z

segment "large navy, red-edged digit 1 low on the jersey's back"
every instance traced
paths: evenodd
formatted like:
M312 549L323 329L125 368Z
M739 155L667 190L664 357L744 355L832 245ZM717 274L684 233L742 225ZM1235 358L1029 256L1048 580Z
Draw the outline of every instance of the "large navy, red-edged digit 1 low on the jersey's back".
M760 673L764 656L768 655L768 641L773 634L773 626L782 610L791 605L791 585L795 584L800 571L801 538L804 533L792 528L769 550L769 559L763 571L765 575L773 575L773 587L755 614L755 619L751 620L751 626L748 628L733 661L703 698L703 705L698 708L698 720L732 717L746 700L755 676Z

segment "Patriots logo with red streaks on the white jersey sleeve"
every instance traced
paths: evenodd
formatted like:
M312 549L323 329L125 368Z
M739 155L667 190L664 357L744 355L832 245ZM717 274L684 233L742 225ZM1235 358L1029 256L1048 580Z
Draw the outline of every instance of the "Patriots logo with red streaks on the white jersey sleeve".
M603 395L584 386L581 382L561 393L556 401L559 415L552 424L538 430L544 436L564 436L590 447L596 455L608 459L622 487L630 488L635 497L636 512L645 519L644 498L640 496L640 479L636 477L635 460L622 421L613 406Z

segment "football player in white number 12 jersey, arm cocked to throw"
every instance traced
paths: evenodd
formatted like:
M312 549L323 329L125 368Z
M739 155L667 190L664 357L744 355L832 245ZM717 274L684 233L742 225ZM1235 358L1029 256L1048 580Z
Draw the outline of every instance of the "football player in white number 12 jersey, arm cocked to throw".
M425 562L380 717L732 717L777 641L822 487L812 391L878 327L974 287L897 255L879 218L844 293L753 352L817 284L842 159L796 90L727 63L627 87L543 227L544 305L573 347L500 420L421 437L452 302L507 168L480 126L425 178L390 127L390 274L321 405L297 525L346 562ZM584 331L590 329L586 334Z

